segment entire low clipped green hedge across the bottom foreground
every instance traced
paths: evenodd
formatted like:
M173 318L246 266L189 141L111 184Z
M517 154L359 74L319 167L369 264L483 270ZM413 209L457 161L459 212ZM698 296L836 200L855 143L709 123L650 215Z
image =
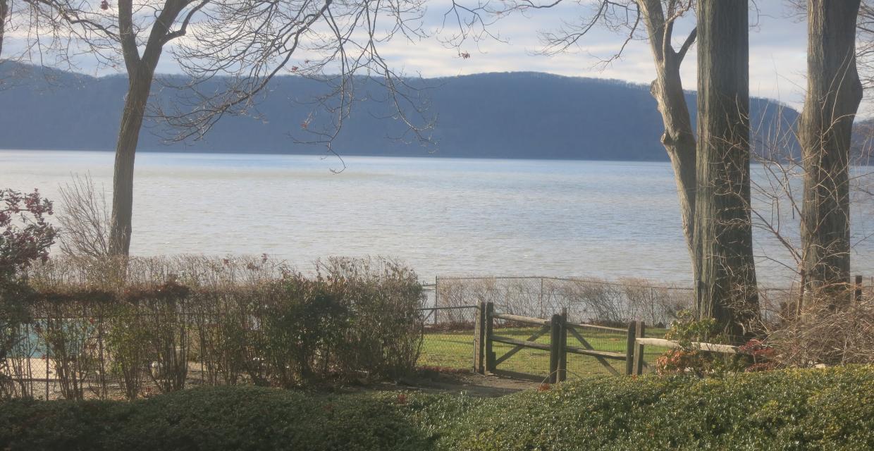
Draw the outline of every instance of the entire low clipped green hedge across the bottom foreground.
M211 387L10 400L9 449L872 449L874 366L588 378L498 399Z

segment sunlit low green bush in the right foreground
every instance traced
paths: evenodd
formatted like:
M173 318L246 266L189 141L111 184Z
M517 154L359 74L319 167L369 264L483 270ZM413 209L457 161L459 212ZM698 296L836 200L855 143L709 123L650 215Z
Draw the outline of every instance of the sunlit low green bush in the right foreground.
M440 422L422 412L440 425L439 449L866 450L874 449L874 367L593 378Z

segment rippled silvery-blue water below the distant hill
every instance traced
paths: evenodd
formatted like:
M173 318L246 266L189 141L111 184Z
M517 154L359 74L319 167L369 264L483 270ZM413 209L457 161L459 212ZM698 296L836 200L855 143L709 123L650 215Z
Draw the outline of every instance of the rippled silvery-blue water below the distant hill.
M268 253L299 267L327 255L386 255L434 275L646 277L686 283L668 163L139 153L131 253ZM113 154L0 150L0 186L39 188L90 171L112 184ZM854 212L858 239L874 232ZM756 253L788 261L756 232ZM863 242L854 271L874 274ZM786 270L759 260L760 278Z

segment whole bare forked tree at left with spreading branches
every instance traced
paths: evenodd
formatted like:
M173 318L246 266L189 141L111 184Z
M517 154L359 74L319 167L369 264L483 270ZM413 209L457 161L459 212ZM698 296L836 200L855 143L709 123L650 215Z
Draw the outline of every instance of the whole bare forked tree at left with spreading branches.
M419 112L415 96L401 93L399 86L404 80L389 69L378 52L379 43L394 34L422 36L417 27L421 0L119 0L117 5L96 0L23 2L28 8L17 13L16 23L32 31L29 46L40 55L51 50L59 59L71 61L78 53L87 52L101 64L123 65L128 74L115 148L110 254L129 252L135 151L165 49L170 49L194 79L183 86L194 93L189 97L191 103L182 105L189 108L187 111L173 108L172 114L164 114L157 109L170 125L182 129L177 136L180 139L204 135L225 114L246 114L255 97L266 94L268 81L284 71L333 82L333 91L316 100L317 106L333 114L321 131L323 142L336 136L356 100L352 80L357 73L383 76L383 86L389 92L386 100L399 112L396 118L405 121L417 137L427 139L420 135L427 126L414 125L408 114ZM294 57L302 62L293 61ZM215 86L212 92L196 89L216 76L227 80L218 91Z

